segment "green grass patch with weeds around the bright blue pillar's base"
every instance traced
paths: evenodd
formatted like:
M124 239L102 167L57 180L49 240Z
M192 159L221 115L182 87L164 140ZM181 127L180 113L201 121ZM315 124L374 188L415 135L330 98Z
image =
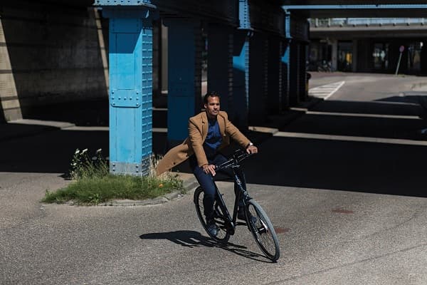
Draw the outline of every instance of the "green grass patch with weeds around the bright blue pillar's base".
M87 150L76 150L71 162L70 177L73 182L65 188L50 192L42 202L63 204L92 205L105 203L113 199L149 199L179 190L184 185L178 175L160 175L154 173L157 160L152 160L149 175L110 175L107 160L102 158L100 150L89 157Z

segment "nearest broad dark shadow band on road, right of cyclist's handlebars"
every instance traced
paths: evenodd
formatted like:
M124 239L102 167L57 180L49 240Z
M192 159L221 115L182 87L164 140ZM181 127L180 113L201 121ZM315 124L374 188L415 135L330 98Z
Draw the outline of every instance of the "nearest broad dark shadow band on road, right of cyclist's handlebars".
M427 197L426 161L420 146L275 137L245 171L248 183Z

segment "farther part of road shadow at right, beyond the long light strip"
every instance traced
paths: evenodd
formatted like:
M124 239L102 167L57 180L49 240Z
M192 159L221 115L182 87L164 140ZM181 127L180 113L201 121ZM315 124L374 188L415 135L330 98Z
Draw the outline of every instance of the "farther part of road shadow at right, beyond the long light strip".
M425 120L421 120L425 110L420 105L328 100L322 101L311 110L317 113L306 114L297 122L280 130L370 138L427 139L426 135L420 133L420 130L427 125ZM327 114L328 112L337 113L337 115ZM367 114L367 116L352 116L347 113ZM369 117L369 115L379 116ZM402 115L413 118L381 118L381 115Z

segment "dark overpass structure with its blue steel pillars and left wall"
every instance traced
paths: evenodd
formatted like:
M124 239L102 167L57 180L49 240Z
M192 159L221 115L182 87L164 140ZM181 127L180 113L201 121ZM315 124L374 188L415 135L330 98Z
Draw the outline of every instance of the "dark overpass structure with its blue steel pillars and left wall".
M427 8L423 1L370 2L4 1L0 117L108 97L111 171L141 173L152 149L159 23L169 29L168 139L177 142L201 108L202 31L208 88L223 94L223 109L244 129L306 99L308 17L422 17Z

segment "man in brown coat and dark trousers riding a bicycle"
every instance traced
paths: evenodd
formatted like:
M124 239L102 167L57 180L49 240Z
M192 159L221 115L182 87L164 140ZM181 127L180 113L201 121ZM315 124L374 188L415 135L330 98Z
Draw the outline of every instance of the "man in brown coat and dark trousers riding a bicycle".
M228 120L226 112L220 111L218 93L210 92L204 95L204 108L205 112L189 119L189 137L164 155L157 165L156 172L160 175L189 158L191 170L204 190L203 204L208 230L216 236L218 233L214 222L216 189L212 177L216 175L215 165L227 161L219 150L230 144L230 138L246 148L248 153L257 153L258 148ZM234 190L237 191L236 183ZM238 218L245 219L243 209L238 209Z

